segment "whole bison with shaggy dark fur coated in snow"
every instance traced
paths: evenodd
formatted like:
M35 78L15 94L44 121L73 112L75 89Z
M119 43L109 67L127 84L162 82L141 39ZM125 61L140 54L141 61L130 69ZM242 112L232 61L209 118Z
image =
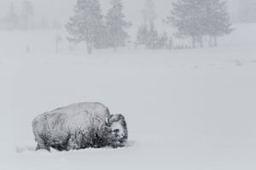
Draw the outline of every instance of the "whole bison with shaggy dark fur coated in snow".
M100 103L68 105L32 121L36 150L122 147L128 139L125 117L110 115Z

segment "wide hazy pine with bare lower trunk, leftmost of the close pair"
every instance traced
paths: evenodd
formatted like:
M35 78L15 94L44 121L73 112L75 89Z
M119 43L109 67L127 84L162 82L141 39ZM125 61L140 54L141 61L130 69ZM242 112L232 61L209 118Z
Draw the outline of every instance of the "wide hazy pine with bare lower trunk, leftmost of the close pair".
M71 42L86 42L87 52L91 54L92 48L98 41L102 30L102 9L98 0L77 0L74 15L67 23L68 37Z

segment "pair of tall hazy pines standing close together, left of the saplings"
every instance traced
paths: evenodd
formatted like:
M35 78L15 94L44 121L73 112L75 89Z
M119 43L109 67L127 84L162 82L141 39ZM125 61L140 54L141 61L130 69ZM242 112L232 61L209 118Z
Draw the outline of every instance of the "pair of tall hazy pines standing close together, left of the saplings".
M67 31L72 35L70 42L86 42L88 54L92 48L119 48L125 46L131 26L123 14L124 5L121 0L112 0L108 14L103 16L98 0L78 0L74 7L74 15L67 23Z

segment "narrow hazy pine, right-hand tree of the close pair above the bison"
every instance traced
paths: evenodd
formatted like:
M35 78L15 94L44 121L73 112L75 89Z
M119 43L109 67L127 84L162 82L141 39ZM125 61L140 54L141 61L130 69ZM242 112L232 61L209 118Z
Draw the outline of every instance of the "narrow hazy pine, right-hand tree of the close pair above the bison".
M125 20L124 5L121 0L112 0L111 6L106 16L106 25L109 46L116 49L125 46L125 40L128 37L125 29L131 26L131 22Z

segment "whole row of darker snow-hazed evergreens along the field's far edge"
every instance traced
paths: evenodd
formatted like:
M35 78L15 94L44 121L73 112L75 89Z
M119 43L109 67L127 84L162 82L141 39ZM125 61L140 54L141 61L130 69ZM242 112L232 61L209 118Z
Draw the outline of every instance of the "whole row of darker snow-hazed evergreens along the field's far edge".
M74 15L67 23L70 42L86 42L88 54L92 48L119 48L127 42L127 28L131 22L125 20L124 4L111 0L108 14L103 16L98 0L77 0ZM159 33L155 27L157 14L152 0L146 0L142 10L143 23L137 30L136 45L146 48L173 48L172 37L166 31ZM177 0L166 24L177 28L177 38L191 38L191 48L203 47L203 40L209 37L209 46L218 45L217 37L232 31L227 5L222 0Z

